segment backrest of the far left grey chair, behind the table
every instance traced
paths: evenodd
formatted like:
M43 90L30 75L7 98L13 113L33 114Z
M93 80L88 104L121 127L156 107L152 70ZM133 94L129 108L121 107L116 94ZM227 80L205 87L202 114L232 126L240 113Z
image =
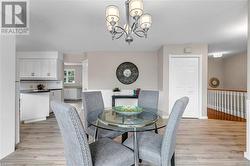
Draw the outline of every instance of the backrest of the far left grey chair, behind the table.
M97 116L104 110L102 92L83 92L82 99L84 108L84 119L86 123L89 121L96 121ZM84 124L85 128L89 126L86 126L86 123Z

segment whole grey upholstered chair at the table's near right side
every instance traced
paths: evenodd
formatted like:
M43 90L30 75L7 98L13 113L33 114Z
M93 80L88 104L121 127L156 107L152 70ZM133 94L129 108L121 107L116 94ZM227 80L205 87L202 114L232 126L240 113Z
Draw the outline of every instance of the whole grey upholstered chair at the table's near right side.
M163 136L153 132L145 132L138 136L140 159L157 166L170 166L170 162L174 165L176 132L188 101L188 97L183 97L175 102ZM123 144L133 149L131 137Z

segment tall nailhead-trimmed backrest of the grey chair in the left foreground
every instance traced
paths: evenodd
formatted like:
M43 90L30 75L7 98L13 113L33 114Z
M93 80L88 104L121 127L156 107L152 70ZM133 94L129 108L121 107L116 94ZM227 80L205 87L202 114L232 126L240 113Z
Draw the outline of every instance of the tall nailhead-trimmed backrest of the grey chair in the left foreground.
M61 130L68 166L92 166L86 133L76 109L69 104L51 102Z

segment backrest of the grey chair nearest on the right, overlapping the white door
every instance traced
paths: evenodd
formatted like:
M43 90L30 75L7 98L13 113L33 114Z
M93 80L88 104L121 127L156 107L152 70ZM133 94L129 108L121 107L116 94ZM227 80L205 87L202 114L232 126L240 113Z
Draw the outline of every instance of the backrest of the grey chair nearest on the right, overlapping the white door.
M163 136L161 146L162 165L169 165L172 155L175 152L176 132L181 121L184 110L188 104L189 98L183 97L177 100L172 108L172 112L168 119L168 124Z

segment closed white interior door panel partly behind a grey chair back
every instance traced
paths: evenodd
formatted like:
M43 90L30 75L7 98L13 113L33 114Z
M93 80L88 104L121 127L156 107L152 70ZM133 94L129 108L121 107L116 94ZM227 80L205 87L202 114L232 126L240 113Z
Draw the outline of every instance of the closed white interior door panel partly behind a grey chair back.
M200 60L199 57L170 56L169 109L181 97L189 97L183 117L198 118L200 113Z

